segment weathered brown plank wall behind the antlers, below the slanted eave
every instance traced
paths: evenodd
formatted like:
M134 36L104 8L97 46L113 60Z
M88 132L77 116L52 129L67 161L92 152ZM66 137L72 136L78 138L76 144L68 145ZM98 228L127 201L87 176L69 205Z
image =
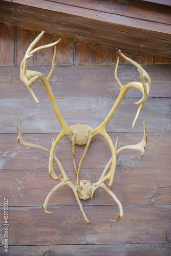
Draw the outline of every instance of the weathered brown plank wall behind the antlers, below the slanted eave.
M51 198L45 214L41 208L57 184L48 174L47 153L17 144L16 125L22 117L26 141L51 148L60 127L40 81L33 86L41 108L19 79L19 65L37 31L1 24L0 67L0 169L1 216L3 199L9 200L9 255L170 255L170 59L123 49L141 63L152 79L149 98L132 129L141 93L130 90L107 126L118 147L138 143L146 123L148 143L143 158L139 152L122 152L111 190L123 205L124 215L116 223L118 206L103 190L93 200L83 201L91 221L89 230L69 187L60 188ZM49 44L58 35L45 34L38 46ZM121 47L122 49L122 47ZM117 48L62 37L57 46L51 87L68 125L88 123L96 127L109 113L119 93L114 78ZM52 49L38 52L29 60L29 69L48 75ZM120 59L118 77L122 84L140 81L137 69ZM76 164L84 146L76 146ZM75 183L72 146L65 137L57 156ZM101 136L91 143L82 164L82 179L97 181L111 158L109 145ZM58 170L56 169L56 172ZM3 223L3 217L2 217ZM4 255L1 230L1 255Z

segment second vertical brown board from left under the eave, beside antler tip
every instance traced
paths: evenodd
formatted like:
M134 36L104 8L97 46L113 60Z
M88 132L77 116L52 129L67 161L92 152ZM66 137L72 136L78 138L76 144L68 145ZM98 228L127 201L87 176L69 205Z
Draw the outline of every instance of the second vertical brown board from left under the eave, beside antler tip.
M33 40L34 31L16 28L16 65L20 65L20 63L22 63L25 53ZM33 65L33 63L34 57L28 59L28 65Z

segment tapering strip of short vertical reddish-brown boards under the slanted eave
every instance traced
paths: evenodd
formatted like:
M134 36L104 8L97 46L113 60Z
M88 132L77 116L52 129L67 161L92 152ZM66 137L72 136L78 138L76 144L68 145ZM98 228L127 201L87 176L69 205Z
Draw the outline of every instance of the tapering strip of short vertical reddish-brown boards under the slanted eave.
M39 34L34 30L0 24L1 29L1 59L0 65L20 65L28 46ZM129 51L122 47L117 48L94 44L92 42L80 41L73 38L61 37L59 35L45 34L37 46L50 44L61 38L57 45L55 65L115 65L117 62L118 50L140 64L170 63L171 58L149 55L141 52ZM63 51L65 49L65 51ZM28 61L28 65L51 65L53 49L41 51L35 54L34 58ZM120 63L128 64L120 58Z

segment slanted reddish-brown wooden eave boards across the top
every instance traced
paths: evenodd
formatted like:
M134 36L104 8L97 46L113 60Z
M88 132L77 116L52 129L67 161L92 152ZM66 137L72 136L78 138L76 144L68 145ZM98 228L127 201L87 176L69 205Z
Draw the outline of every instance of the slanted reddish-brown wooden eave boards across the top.
M24 0L15 0L15 3L10 0L0 1L0 21L15 26L22 24L24 28L36 31L41 31L43 27L46 33L106 46L122 45L127 50L153 55L157 52L158 56L170 58L169 6L166 8L163 5L136 1L135 8L135 1L131 1L130 7L127 7L127 2L121 1L112 3L111 7L110 1L103 1L101 4L96 0L89 2L87 8L84 1L79 2L82 6L44 0L31 4ZM102 11L102 6L105 6L105 11ZM156 14L153 20L152 17L149 18L151 10L154 11L153 17ZM130 15L132 12L136 13L135 16Z

